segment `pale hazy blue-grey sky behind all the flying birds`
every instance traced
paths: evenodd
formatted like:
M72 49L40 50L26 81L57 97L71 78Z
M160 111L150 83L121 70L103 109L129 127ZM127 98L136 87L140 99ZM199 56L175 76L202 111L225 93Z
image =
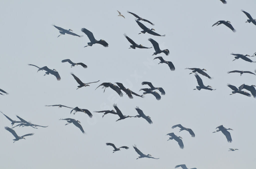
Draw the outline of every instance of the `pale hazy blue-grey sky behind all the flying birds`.
M256 85L254 75L233 73L232 70L252 71L256 64L238 59L233 53L252 55L255 49L256 26L245 23L248 19L243 9L256 18L254 0L232 1L226 5L212 1L3 1L0 5L0 88L9 95L0 95L0 110L12 119L19 115L34 124L49 127L33 129L16 127L19 136L35 133L13 143L14 137L4 129L10 121L0 115L1 164L0 168L174 168L186 164L188 168L253 168L255 166L256 137L252 134L255 124L255 99L241 94L229 95L227 83L239 87L245 83ZM119 17L119 10L124 16ZM166 37L139 34L142 29L134 21L129 10L150 20L142 23L154 28ZM229 20L237 30L228 27L211 27L218 20ZM61 35L51 26L72 29L82 38ZM86 28L97 40L104 39L109 47L94 44L84 48L88 37L80 31ZM170 54L158 54L172 61L176 70L166 64L157 64L154 49L128 49L127 34L137 44L150 47L152 38L160 49ZM70 68L63 59L83 62ZM256 56L251 58L256 61ZM28 66L48 66L56 69L61 80ZM198 84L186 67L205 68L214 77L210 80L199 75L204 84L215 91L193 90ZM70 75L83 82L100 80L89 87L76 90L78 84ZM162 87L166 95L157 101L153 95L145 98L127 95L122 98L110 88L95 88L103 82L121 82L136 93L142 81L150 81ZM150 125L142 118L128 118L115 122L119 117L94 110L112 110L116 103L124 115L137 115L136 106L150 116ZM86 108L93 118L81 112L70 114L69 108L45 107L62 104ZM86 135L73 124L67 125L60 118L74 118L81 122ZM187 131L178 132L171 126L182 124L191 128L196 137ZM232 143L221 133L212 133L223 125L232 128ZM174 132L183 138L184 149L177 142L168 140L167 133ZM130 149L112 153L113 148L128 146ZM132 145L155 159L138 159ZM229 148L238 151L229 152Z

